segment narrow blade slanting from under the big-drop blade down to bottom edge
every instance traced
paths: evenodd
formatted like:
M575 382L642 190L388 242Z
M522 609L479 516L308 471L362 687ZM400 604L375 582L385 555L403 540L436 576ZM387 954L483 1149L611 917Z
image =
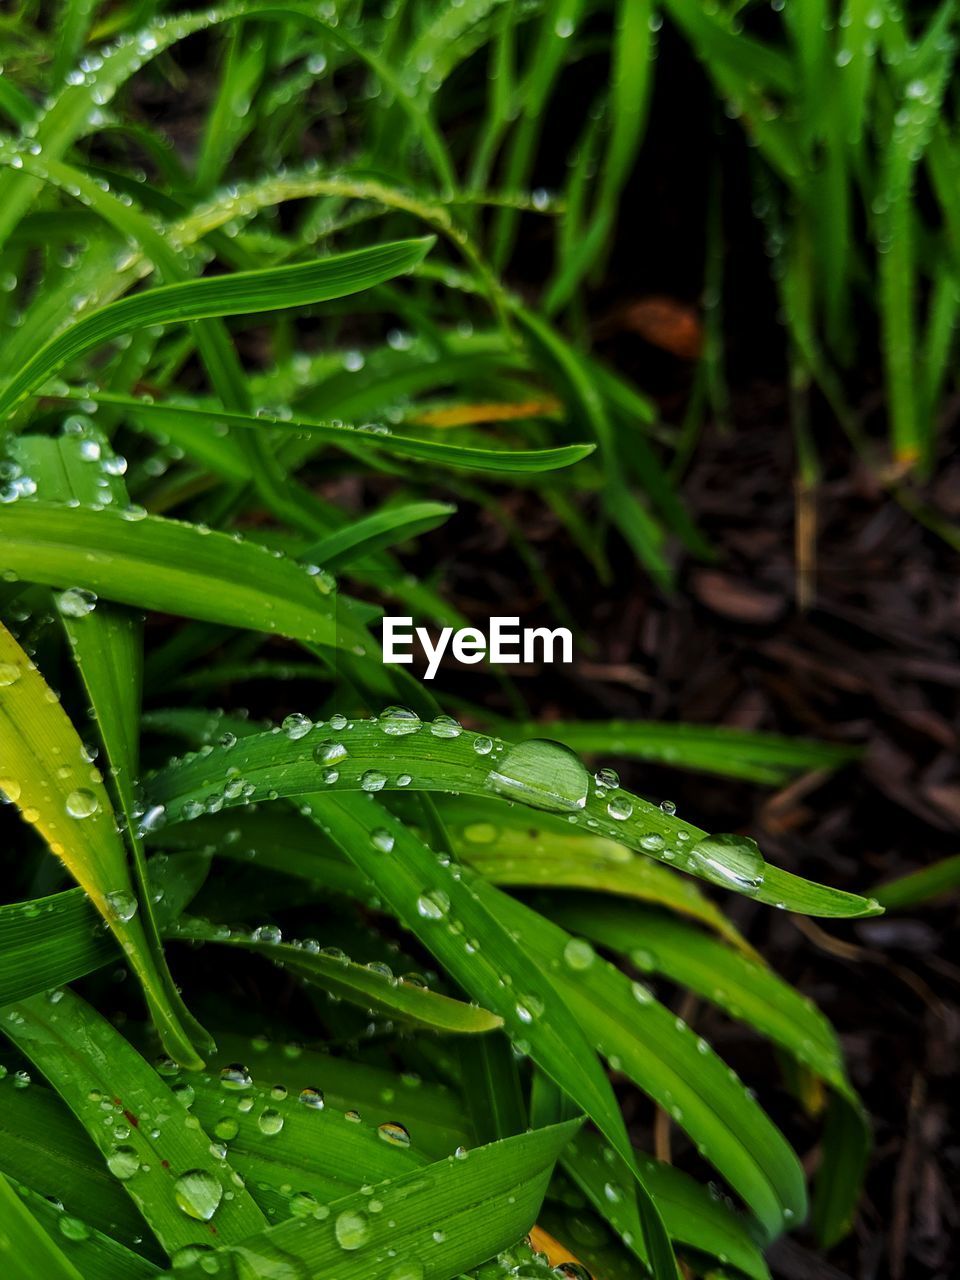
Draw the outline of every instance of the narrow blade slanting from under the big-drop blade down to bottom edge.
M372 796L312 795L307 804L320 829L372 881L397 918L465 991L500 1014L508 1033L630 1164L623 1120L589 1039L567 1016L553 975L517 941L521 934L504 928L499 910L481 901L477 887L483 882L465 882L461 868L438 859ZM387 859L374 842L381 829L394 842ZM506 895L498 909L503 901ZM654 1275L673 1280L669 1242L639 1176L636 1194Z

